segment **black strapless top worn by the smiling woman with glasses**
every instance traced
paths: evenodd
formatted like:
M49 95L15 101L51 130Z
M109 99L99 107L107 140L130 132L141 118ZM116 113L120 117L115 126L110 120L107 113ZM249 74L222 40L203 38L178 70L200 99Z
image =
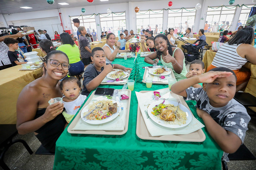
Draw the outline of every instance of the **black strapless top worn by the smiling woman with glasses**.
M46 108L37 109L35 119L45 113ZM55 145L57 139L60 137L64 130L66 120L62 114L57 115L53 120L45 123L44 126L36 130L37 139L49 151L55 152Z

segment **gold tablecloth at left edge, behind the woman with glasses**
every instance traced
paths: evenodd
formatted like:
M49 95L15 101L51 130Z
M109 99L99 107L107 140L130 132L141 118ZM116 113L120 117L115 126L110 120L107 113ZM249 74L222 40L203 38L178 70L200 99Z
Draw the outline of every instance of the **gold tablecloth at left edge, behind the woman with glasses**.
M16 103L21 90L43 75L41 68L31 71L19 69L21 65L0 70L0 124L16 124Z

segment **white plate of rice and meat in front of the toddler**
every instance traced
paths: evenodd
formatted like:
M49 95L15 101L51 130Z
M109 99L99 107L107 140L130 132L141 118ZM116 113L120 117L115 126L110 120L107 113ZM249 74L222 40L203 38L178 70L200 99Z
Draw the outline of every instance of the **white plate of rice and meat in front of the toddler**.
M99 104L100 108L95 109L87 117L90 111L92 111L95 106ZM103 124L115 119L121 112L120 103L115 100L98 100L93 103L88 104L81 111L81 119L89 124Z

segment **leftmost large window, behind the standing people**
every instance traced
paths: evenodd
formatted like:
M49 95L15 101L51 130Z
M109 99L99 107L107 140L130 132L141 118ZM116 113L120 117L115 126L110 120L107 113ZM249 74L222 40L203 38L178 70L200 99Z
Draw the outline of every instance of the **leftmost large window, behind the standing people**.
M86 17L90 17L90 18L86 18ZM71 19L71 24L72 24L72 28L73 28L72 31L76 37L77 37L77 27L75 27L73 24L73 21L72 21L73 18L78 18L80 20L80 26L84 26L85 29L87 30L87 33L92 34L93 29L95 32L97 32L95 15L93 15L93 16L91 16L91 15L74 16L70 19Z

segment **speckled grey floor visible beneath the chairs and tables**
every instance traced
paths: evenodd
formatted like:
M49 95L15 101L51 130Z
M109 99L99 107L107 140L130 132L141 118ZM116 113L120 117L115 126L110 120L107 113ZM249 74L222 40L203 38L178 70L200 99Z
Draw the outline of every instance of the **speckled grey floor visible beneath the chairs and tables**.
M189 64L186 68L188 69ZM248 124L248 131L244 139L244 144L256 157L256 114L249 114L251 121ZM21 143L13 144L4 156L4 161L10 169L15 170L50 170L53 169L54 156L50 155L35 155L40 142L35 137L34 133L27 135L16 135L13 139L25 140L32 151L32 155L27 152ZM227 163L228 169L230 170L252 170L256 169L256 160L253 161L230 161ZM0 169L2 169L0 167Z

